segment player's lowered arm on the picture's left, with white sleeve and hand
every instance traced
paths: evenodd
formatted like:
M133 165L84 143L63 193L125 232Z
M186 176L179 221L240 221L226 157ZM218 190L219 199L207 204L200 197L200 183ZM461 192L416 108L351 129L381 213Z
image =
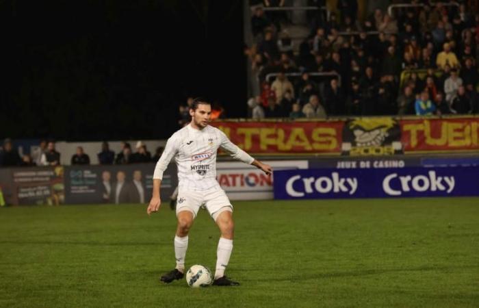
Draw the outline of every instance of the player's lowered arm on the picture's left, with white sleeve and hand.
M153 173L153 195L151 196L150 204L148 204L148 208L146 209L146 213L150 215L155 211L158 211L161 205L161 198L159 197L160 194L160 187L161 187L161 179L163 179L163 172L170 164L171 159L174 155L178 152L178 142L174 136L172 136L166 142L165 150L159 157L158 162L155 167L155 172Z

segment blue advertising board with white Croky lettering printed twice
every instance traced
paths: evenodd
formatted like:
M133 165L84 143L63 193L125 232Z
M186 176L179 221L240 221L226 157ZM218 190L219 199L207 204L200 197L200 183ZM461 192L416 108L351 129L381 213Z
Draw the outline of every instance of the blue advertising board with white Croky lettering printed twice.
M274 172L275 199L479 196L479 167Z

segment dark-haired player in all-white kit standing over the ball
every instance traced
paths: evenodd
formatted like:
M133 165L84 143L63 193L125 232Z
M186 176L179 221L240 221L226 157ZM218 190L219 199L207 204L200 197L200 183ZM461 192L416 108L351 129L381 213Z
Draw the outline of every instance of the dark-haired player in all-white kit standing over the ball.
M163 172L174 157L179 179L176 209L178 224L174 237L177 266L161 276L160 280L170 283L183 278L188 232L198 210L204 205L211 218L218 224L221 233L213 285L239 285L224 276L224 270L233 251L233 206L216 181L216 153L221 147L235 159L256 166L267 175L271 174L272 168L239 149L222 131L208 125L211 104L204 99L194 100L190 107L190 116L192 116L190 124L174 133L166 142L164 152L155 167L153 196L146 210L148 215L158 211L161 205L159 190Z

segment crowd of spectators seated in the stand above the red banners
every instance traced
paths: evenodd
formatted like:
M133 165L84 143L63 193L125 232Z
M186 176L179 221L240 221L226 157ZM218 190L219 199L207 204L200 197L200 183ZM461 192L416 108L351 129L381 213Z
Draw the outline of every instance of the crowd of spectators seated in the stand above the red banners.
M251 117L478 114L479 14L472 2L409 1L420 5L396 9L394 17L374 10L359 21L356 0L338 1L340 15L308 12L311 33L298 53L284 20L255 6L255 43L246 49L257 80Z

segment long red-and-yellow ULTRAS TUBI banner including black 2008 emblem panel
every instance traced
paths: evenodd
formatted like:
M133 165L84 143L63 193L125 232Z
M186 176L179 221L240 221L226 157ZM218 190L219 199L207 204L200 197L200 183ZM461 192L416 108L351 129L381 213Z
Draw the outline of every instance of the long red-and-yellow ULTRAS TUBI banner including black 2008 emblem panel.
M213 123L248 153L374 157L479 151L479 118L348 118Z

